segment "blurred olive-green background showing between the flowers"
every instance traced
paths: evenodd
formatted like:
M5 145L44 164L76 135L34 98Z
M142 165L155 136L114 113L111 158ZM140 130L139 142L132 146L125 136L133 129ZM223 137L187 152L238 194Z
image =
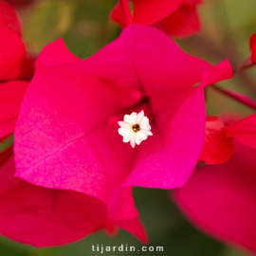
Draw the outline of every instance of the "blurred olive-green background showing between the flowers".
M170 0L171 1L171 0ZM204 0L199 7L203 29L189 39L177 40L187 52L217 64L229 58L235 67L249 56L248 38L256 31L255 0ZM81 58L86 58L118 37L120 28L109 18L117 0L38 0L18 8L24 25L27 49L38 54L44 46L63 37L66 46ZM256 100L255 68L221 85L242 92ZM246 117L252 111L209 88L209 115L239 113ZM192 226L176 210L170 192L136 188L137 209L149 233L150 246L164 247L163 252L110 252L115 255L174 255L174 256L246 256ZM131 234L120 230L114 238L103 232L86 237L65 247L34 248L0 237L2 256L80 256L100 255L92 245L143 245ZM104 252L107 253L107 252Z

